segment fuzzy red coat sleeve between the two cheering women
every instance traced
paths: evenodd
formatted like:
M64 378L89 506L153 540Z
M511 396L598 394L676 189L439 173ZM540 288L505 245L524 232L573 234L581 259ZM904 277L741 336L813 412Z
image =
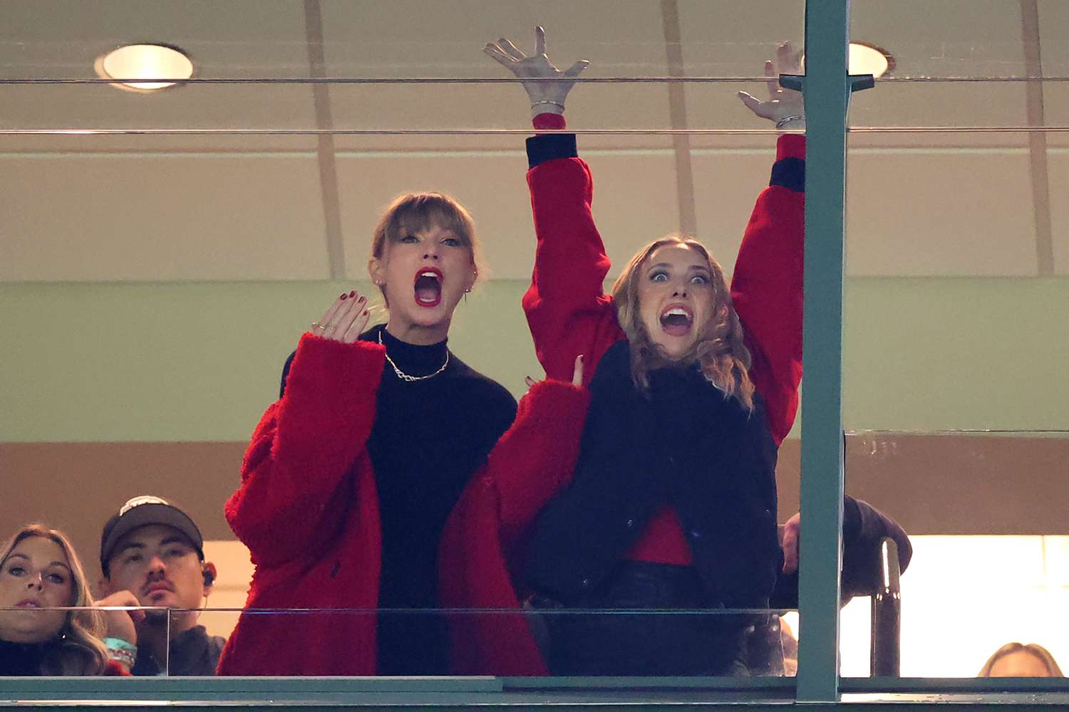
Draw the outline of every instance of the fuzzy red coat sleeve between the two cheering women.
M571 481L589 405L586 389L549 380L520 400L516 420L490 453L483 475L497 488L506 550Z

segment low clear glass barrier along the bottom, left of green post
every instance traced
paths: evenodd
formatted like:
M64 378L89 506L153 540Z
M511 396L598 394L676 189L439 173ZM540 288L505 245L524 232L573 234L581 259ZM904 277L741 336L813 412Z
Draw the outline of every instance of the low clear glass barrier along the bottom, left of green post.
M783 677L796 648L785 613L580 610L546 599L512 611L24 603L0 608L0 677L203 677L217 664L218 675L243 677ZM321 645L285 645L297 627Z

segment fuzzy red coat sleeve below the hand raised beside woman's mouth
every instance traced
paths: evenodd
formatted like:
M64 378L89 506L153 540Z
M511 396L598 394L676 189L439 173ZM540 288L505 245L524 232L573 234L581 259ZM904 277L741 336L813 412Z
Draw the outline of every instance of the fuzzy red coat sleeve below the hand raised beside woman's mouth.
M335 495L367 447L384 353L377 344L301 337L285 394L252 433L224 509L254 563L308 554L340 526L347 503Z

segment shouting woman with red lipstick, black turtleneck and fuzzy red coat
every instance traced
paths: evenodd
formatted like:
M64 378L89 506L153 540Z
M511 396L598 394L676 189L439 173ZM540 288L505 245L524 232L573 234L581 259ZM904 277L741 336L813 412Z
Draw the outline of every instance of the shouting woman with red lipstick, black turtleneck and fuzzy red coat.
M443 675L441 528L515 416L515 399L446 338L479 273L471 218L440 193L399 197L372 236L369 272L389 317L341 295L290 357L227 521L255 573L222 675Z

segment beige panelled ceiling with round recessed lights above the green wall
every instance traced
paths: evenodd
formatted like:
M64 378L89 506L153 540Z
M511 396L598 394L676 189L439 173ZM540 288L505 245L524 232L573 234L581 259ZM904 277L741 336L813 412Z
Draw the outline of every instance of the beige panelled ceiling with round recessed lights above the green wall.
M494 276L524 279L532 236L523 136L463 133L526 131L521 88L299 80L500 79L482 45L506 34L528 47L538 22L549 34L551 57L592 61L585 76L663 77L671 72L663 11L672 4L688 77L754 77L778 41L800 43L803 35L801 0L5 3L0 281L361 278L382 206L428 188L471 209ZM1069 3L1037 0L1040 31L1032 39L1022 35L1022 4L1028 0L853 0L853 38L886 47L898 66L894 81L856 95L852 125L1023 127L1031 105L1033 114L1042 109L1045 125L1069 126L1069 82L1056 80L1069 76L1060 36ZM309 23L306 11L317 11L320 23ZM1037 39L1052 79L1029 93L1019 79L1034 69L1025 42ZM94 58L145 41L187 50L199 78L297 81L197 83L155 94L102 83L11 83L93 79ZM310 42L322 48L322 65L310 62ZM915 81L954 77L990 81ZM618 264L652 237L679 230L682 200L693 203L699 237L730 267L774 145L772 136L730 132L766 128L737 101L740 89L758 93L763 85L685 84L685 114L676 124L670 107L680 96L672 99L664 83L574 90L572 127L645 131L579 140L597 180L595 217ZM657 135L669 128L721 130L688 137L690 181L677 175L687 142ZM71 129L142 135L42 133ZM324 129L370 133L283 133ZM385 133L398 129L417 133ZM249 130L258 133L238 133ZM1069 133L1032 136L1038 138L852 135L850 272L1069 272ZM692 181L693 195L684 190ZM1047 191L1037 192L1034 181ZM1053 243L1053 263L1037 257L1044 240Z

